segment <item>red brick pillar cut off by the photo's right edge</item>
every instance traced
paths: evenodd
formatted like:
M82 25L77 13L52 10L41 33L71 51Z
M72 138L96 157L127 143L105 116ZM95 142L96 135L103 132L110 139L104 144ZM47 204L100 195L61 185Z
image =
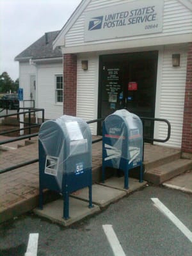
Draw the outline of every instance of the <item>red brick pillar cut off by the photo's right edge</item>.
M188 50L182 152L192 154L192 42L189 43Z

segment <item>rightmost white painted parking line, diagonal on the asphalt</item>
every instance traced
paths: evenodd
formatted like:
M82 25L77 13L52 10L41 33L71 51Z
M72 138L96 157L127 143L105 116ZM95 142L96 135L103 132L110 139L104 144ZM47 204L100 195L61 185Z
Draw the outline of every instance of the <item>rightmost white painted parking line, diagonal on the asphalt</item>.
M192 232L163 204L158 198L151 198L154 205L163 212L163 214L171 220L177 228L188 237L189 241L192 243Z

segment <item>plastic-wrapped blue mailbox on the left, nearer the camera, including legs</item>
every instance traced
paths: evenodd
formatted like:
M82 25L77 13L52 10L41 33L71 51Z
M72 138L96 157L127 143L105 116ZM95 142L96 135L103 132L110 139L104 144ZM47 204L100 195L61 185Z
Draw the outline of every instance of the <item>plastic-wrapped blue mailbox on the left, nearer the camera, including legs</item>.
M92 207L92 134L81 118L63 115L39 131L40 209L43 189L63 195L63 218L69 218L69 195L89 188Z

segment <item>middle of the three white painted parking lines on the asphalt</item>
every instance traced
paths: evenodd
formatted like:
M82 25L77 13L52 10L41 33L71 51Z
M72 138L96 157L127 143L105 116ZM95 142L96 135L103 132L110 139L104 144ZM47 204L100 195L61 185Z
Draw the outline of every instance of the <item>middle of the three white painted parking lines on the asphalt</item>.
M124 250L120 245L112 225L102 225L102 228L108 238L109 244L113 250L114 256L125 256Z

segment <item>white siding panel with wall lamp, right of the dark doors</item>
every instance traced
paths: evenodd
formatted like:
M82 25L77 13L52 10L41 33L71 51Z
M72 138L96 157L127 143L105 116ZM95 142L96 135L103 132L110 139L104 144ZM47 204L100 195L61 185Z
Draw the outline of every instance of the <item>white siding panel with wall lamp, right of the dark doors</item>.
M172 67L172 54L180 53L180 67ZM186 87L186 47L164 47L161 70L161 89L159 92L159 118L166 118L172 125L171 138L166 145L181 146ZM158 138L166 138L167 126L158 125Z

